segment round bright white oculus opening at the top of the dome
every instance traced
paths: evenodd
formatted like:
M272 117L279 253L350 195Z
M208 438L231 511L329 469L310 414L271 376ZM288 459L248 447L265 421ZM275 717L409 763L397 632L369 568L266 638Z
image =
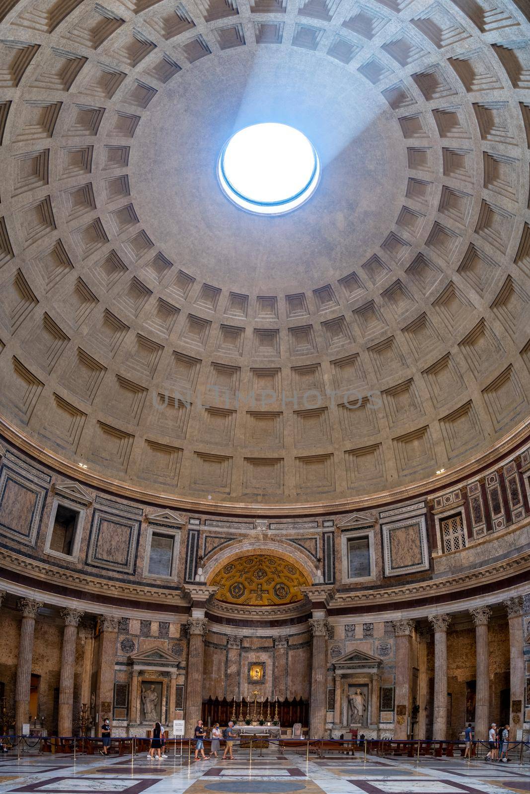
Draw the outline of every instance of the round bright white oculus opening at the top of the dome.
M282 215L308 200L320 179L320 160L303 133L285 124L254 124L226 141L217 176L243 210Z

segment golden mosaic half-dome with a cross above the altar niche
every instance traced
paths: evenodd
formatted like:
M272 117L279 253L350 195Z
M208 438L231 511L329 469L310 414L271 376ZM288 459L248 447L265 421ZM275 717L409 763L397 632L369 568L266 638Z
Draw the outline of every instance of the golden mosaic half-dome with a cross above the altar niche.
M308 580L296 565L279 557L256 554L227 563L211 580L219 601L269 607L303 599Z

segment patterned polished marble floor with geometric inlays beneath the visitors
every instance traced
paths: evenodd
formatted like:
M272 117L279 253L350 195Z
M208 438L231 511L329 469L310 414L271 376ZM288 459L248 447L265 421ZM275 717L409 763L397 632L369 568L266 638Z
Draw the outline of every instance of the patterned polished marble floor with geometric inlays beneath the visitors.
M0 759L0 794L530 794L530 764L456 758L394 759L234 754L234 761L188 763L188 755L147 757L29 755Z

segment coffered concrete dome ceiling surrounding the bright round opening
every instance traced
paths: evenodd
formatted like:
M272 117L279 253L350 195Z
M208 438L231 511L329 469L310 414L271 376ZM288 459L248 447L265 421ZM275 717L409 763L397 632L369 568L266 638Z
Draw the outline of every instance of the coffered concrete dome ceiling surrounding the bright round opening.
M524 0L29 0L0 27L2 435L254 513L412 496L524 438ZM296 212L219 187L264 123L318 152Z

